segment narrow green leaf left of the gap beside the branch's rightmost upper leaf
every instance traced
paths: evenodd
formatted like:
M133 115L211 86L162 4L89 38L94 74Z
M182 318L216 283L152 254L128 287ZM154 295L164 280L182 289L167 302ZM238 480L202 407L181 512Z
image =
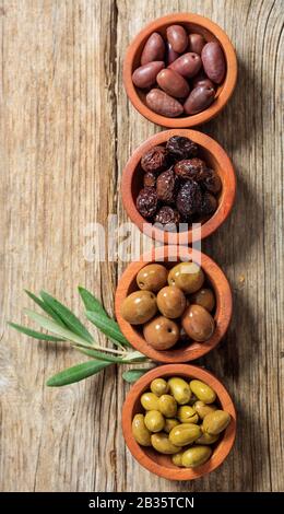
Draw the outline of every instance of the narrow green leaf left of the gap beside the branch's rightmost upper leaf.
M60 316L68 328L92 344L94 339L90 331L68 307L66 307L62 303L58 302L58 300L56 300L54 296L50 296L50 294L46 293L45 291L40 291L40 296L45 304L49 305L49 307Z

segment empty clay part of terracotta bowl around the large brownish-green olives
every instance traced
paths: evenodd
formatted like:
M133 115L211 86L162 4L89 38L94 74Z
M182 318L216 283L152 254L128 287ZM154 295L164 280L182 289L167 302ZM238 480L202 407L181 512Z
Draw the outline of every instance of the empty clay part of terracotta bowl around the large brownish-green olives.
M142 327L130 325L120 315L120 306L130 293L137 291L137 274L149 262L163 262L171 268L180 260L198 262L206 277L206 282L215 294L215 331L205 342L177 343L169 350L155 350L144 339ZM118 282L115 297L116 317L119 327L131 344L144 355L157 362L188 362L199 359L210 352L224 337L232 317L233 301L229 283L221 268L205 254L185 246L164 246L153 248L141 256L140 260L131 262Z

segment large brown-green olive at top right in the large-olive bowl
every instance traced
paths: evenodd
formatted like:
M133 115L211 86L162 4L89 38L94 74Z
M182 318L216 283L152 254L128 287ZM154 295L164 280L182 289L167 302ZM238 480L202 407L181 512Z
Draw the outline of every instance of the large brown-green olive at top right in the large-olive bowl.
M185 293L194 293L203 282L204 273L196 262L179 262L168 273L168 284L176 285Z

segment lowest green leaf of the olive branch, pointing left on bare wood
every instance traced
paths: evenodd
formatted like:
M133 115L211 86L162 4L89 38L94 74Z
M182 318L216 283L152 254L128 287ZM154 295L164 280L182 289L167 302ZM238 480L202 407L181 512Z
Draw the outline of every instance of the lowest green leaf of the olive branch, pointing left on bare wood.
M51 376L46 383L49 387L61 387L63 385L73 384L74 382L83 381L88 376L95 375L104 367L111 365L109 362L103 361L88 361L75 366L68 367L67 370Z

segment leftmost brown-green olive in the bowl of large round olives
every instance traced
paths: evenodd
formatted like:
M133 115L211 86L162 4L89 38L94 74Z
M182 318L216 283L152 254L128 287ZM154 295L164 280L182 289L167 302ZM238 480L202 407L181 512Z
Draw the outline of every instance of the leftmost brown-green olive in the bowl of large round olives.
M157 312L156 296L151 291L135 291L121 305L121 316L131 325L149 322Z

